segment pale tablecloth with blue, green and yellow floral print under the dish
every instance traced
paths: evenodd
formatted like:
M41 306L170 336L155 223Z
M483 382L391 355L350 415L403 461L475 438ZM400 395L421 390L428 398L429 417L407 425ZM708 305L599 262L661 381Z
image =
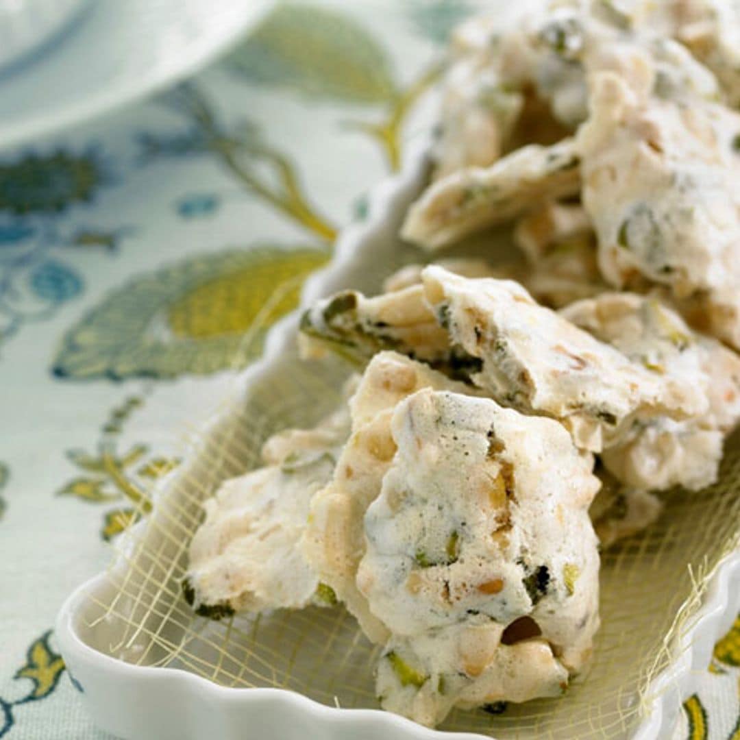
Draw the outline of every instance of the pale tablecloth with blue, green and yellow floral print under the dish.
M56 650L64 596L400 166L480 4L282 4L177 89L0 155L0 737L104 737ZM740 621L676 738L740 738L739 681Z

